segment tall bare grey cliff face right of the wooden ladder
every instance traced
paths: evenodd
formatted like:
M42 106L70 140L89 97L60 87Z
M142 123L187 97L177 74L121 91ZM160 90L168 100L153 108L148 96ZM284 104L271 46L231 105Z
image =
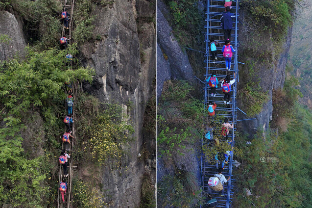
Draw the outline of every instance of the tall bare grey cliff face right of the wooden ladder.
M140 205L144 161L138 154L142 155L143 116L156 75L155 10L153 0L115 0L112 6L97 6L95 34L102 39L82 46L83 65L96 70L93 84L85 83L84 89L102 102L122 104L135 128L135 141L124 147L128 154L122 165L127 168L104 167L100 173L110 207Z

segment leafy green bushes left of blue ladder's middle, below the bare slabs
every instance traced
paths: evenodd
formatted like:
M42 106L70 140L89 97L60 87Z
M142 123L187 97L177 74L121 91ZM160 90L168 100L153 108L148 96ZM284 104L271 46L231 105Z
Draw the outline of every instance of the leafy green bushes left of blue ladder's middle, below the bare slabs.
M165 83L157 115L160 156L181 154L186 144L194 144L202 137L202 116L207 112L201 101L192 97L193 92L186 81Z

